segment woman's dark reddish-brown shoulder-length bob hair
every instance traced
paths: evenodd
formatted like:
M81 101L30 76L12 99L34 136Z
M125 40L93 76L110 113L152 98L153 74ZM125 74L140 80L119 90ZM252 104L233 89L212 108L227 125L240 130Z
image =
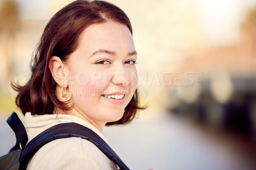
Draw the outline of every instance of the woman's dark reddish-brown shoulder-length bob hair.
M109 20L126 25L131 31L132 26L127 15L117 6L105 1L74 1L56 13L46 25L34 59L31 60L31 77L26 85L21 86L12 82L12 88L18 92L16 105L25 115L52 114L54 106L62 110L71 110L68 102L62 102L56 97L56 83L49 70L49 60L58 56L67 62L79 43L81 32L92 24L108 22ZM124 116L116 122L106 125L118 125L131 122L138 109L138 93L125 108Z

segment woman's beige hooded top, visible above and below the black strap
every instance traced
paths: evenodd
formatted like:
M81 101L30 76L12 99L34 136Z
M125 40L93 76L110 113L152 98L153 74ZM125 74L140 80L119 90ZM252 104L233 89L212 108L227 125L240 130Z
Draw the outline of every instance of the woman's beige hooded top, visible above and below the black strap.
M26 113L24 125L28 140L49 127L57 124L75 122L92 129L100 138L108 141L93 125L71 115L31 115ZM109 145L109 143L108 143ZM97 146L81 138L56 139L44 145L33 156L27 169L117 169Z

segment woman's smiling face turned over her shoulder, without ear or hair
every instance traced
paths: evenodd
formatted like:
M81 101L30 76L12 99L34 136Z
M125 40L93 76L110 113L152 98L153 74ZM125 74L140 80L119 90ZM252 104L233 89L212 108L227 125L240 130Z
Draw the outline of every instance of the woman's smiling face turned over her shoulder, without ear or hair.
M137 88L136 50L126 25L93 24L68 60L68 93L78 117L95 126L122 118Z

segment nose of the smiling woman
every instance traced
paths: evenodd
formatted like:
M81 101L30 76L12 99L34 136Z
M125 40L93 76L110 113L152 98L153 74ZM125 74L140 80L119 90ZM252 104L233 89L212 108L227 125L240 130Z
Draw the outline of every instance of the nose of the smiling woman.
M112 82L115 85L127 86L130 83L129 71L124 66L119 67L113 73Z

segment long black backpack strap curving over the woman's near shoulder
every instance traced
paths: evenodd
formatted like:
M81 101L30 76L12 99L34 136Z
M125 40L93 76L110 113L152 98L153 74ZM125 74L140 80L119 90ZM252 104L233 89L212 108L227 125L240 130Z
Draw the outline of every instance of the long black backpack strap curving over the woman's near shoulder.
M95 132L83 125L76 123L65 123L54 125L53 127L45 130L33 138L28 145L24 148L20 155L20 169L26 169L29 160L35 153L45 144L54 141L55 139L78 137L92 142L99 150L106 155L109 159L120 167L122 170L129 169L124 162L116 155L112 148L98 136Z

